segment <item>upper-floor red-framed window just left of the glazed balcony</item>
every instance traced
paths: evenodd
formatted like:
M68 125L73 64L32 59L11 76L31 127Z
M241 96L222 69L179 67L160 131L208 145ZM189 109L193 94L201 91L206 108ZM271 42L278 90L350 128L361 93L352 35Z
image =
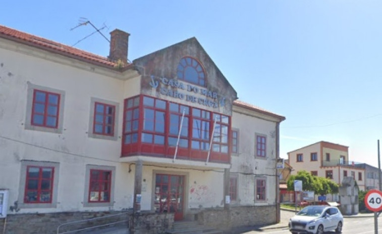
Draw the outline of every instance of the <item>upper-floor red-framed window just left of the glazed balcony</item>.
M114 135L116 119L116 107L104 103L95 102L93 133L100 135Z

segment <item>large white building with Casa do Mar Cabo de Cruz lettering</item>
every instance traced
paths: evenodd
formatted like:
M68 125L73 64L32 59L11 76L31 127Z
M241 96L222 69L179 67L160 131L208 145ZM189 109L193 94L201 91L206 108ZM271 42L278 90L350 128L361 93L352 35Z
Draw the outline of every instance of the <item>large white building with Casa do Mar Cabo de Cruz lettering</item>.
M112 31L102 57L0 26L0 229L124 212L135 233L278 222L285 117L237 100L196 38L132 63L128 38Z

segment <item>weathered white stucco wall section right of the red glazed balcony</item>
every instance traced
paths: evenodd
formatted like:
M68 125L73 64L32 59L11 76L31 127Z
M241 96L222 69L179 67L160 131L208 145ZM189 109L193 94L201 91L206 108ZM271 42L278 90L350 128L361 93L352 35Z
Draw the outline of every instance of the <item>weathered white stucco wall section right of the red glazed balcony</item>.
M234 108L232 128L239 130L239 154L231 157L230 173L238 176L238 201L233 205L275 204L276 123ZM250 123L250 124L248 124ZM256 134L266 136L266 157L255 157ZM255 200L256 178L266 178L266 201Z

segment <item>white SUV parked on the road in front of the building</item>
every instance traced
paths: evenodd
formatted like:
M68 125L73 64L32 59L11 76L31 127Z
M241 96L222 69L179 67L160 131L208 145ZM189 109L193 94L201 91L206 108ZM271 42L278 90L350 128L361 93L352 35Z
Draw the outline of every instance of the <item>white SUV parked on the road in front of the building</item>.
M293 234L323 234L324 231L342 231L344 217L337 207L307 206L289 220L289 230Z

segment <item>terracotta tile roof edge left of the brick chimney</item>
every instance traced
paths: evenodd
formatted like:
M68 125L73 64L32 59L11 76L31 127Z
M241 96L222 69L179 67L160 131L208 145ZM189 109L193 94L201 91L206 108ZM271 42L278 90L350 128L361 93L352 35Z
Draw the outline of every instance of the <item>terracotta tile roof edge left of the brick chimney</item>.
M83 60L86 62L95 62L106 67L114 68L115 66L115 63L109 61L106 57L82 51L69 45L61 44L52 40L21 32L16 29L5 27L3 25L0 25L0 38L11 39L17 42L35 46L43 50L56 52L71 58Z

